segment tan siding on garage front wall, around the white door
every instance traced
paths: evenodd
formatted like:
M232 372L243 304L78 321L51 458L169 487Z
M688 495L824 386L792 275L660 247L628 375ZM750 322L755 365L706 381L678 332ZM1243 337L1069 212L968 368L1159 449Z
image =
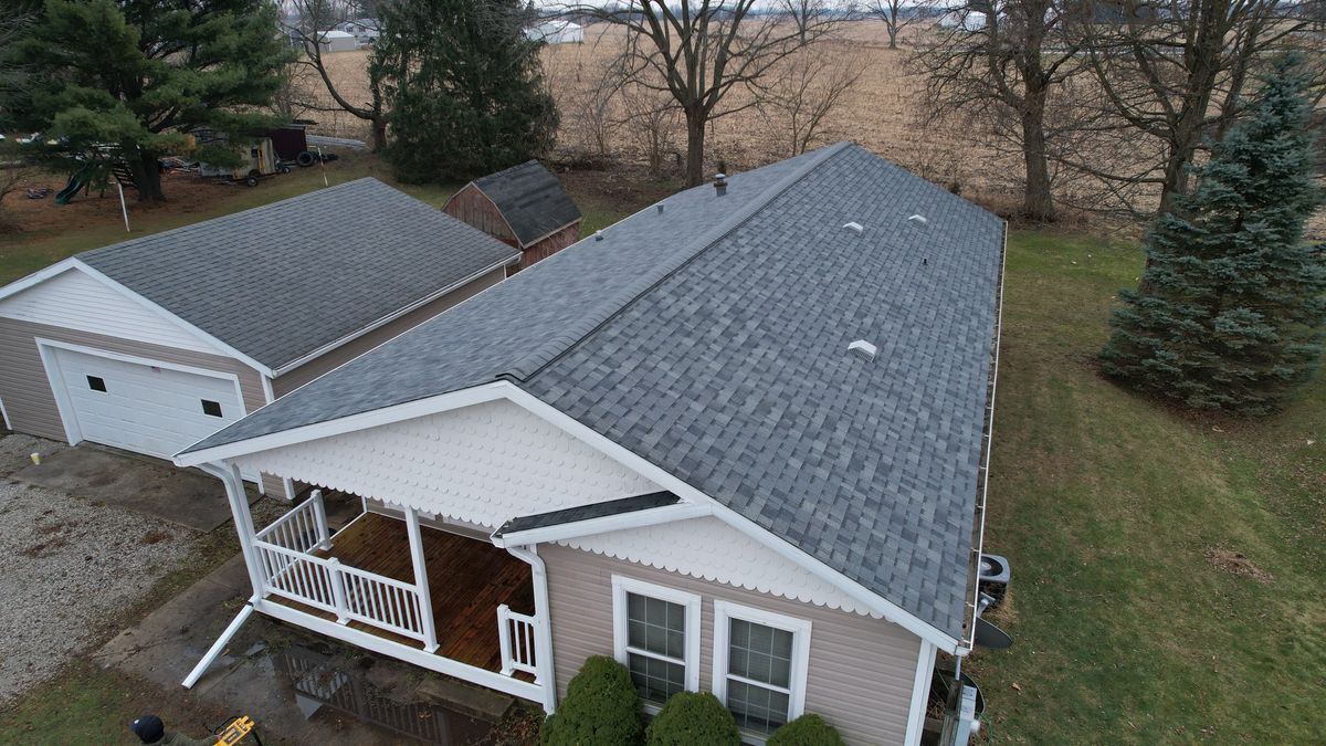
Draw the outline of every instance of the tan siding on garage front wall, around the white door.
M19 433L56 441L64 441L66 437L65 426L60 421L60 409L56 406L56 396L50 390L46 369L37 352L37 337L160 360L162 362L233 373L240 380L240 393L247 411L253 411L267 402L263 396L260 373L229 357L119 340L93 332L48 327L16 319L0 319L0 400L4 401L9 421L15 431Z

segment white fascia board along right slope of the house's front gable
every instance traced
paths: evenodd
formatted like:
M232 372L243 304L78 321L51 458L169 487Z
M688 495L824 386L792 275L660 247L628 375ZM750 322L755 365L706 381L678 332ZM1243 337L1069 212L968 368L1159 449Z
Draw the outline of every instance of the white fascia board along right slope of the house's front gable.
M505 382L505 381L504 381ZM825 583L841 589L853 599L858 600L866 608L879 613L886 620L902 627L903 629L916 634L922 640L932 642L935 646L948 652L956 653L960 646L959 641L947 633L936 629L934 625L922 621L912 613L898 607L892 601L880 597L878 593L867 589L865 585L851 580L837 569L830 568L825 563L817 560L815 558L808 555L806 552L793 547L786 540L774 536L769 531L757 526L753 520L745 518L744 515L733 511L732 508L723 506L709 495L696 490L695 487L687 485L686 482L678 479L672 474L668 474L663 469L659 469L654 463L640 458L639 455L631 453L630 450L622 447L621 445L610 441L595 430L586 427L585 425L577 422L570 415L562 413L554 406L544 402L542 400L534 397L533 394L525 392L524 389L505 382L509 386L508 397L512 402L524 406L533 414L548 419L553 425L566 430L572 435L579 438L586 445L590 445L599 451L602 451L609 458L615 459L618 463L635 470L646 479L652 481L655 485L664 487L683 500L708 504L713 511L712 515L728 526L732 526L737 531L741 531L747 536L760 542L765 547L773 550L780 556L786 560L796 563L797 565L805 568L812 575L819 577Z

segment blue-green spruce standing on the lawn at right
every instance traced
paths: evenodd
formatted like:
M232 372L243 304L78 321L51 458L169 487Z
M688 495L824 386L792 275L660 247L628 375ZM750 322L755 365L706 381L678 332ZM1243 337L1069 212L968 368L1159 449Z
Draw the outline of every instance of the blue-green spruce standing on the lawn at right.
M1107 374L1195 409L1265 413L1322 354L1326 251L1303 243L1321 203L1302 57L1276 60L1197 188L1147 235L1140 291L1123 291Z

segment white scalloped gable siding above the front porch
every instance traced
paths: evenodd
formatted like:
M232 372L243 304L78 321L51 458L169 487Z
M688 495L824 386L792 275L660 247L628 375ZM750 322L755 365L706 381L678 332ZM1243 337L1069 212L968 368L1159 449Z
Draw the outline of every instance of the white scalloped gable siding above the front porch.
M499 400L281 446L245 470L495 530L517 515L658 491L602 451Z

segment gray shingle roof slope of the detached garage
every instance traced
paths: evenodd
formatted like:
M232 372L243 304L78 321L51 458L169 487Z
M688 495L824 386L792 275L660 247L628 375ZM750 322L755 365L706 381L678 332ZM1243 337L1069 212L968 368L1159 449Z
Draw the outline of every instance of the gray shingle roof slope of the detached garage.
M272 369L518 256L373 178L78 255Z

